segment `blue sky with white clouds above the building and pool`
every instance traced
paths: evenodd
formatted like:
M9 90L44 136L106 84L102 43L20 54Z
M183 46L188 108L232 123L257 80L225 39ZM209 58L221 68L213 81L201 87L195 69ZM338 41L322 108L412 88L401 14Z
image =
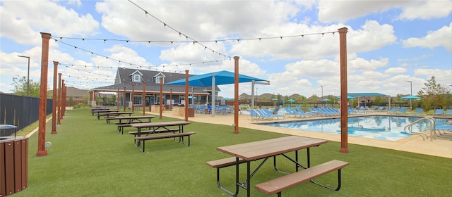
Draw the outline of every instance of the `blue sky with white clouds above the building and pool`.
M113 84L117 68L199 75L234 71L229 57L239 56L241 74L270 81L256 85L258 94L321 96L323 86L323 95L338 96L341 27L349 92L410 94L412 81L417 94L432 76L452 84L452 1L131 1L0 1L0 91L27 75L18 55L30 56L30 79L40 80L40 32L47 32L57 39L49 89L53 61L68 86L90 89ZM277 39L246 40L269 37ZM202 42L220 39L234 41ZM233 85L220 89L234 94ZM251 94L250 83L240 84L242 93Z

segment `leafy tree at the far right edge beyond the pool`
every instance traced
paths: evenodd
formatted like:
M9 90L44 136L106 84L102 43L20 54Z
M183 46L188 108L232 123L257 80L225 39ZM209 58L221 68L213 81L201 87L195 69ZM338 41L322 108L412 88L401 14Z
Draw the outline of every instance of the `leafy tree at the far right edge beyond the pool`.
M452 103L451 88L446 84L436 83L435 77L432 76L419 92L418 96L422 97L422 108L426 111L431 108L447 108L448 103Z

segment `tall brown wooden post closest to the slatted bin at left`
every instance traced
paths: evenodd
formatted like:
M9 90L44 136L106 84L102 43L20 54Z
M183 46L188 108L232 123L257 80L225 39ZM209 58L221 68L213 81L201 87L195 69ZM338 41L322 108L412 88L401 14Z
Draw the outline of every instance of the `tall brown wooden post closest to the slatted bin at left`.
M40 110L39 110L39 132L37 135L37 153L36 156L47 155L45 149L45 116L47 109L47 72L49 67L49 39L52 37L49 33L41 32L42 52L41 52L41 87L40 87Z

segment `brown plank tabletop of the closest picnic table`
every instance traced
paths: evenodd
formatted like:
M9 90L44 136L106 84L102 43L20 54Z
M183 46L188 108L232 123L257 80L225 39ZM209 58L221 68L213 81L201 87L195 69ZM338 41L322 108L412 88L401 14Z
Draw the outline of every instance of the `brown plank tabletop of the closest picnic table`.
M245 144L218 147L217 150L244 160L261 158L297 151L311 146L319 146L327 141L304 136L285 136L276 139L254 141Z

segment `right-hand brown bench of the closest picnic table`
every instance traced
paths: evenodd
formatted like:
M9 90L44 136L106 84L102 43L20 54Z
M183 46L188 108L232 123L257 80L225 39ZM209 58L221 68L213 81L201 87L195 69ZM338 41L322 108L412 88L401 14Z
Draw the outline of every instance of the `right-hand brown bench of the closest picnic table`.
M268 195L277 193L278 197L281 196L281 192L285 189L289 189L292 186L297 186L298 184L302 184L304 182L312 182L314 184L323 186L327 189L332 189L338 191L340 189L340 169L347 166L348 163L341 160L331 160L327 163L322 163L320 165L316 165L314 167L309 167L299 172L294 172L292 174L287 174L283 177L278 177L276 179L270 180L268 182L263 182L261 184L256 184L254 188L258 191L262 191ZM319 184L314 182L313 179L317 177L321 177L324 174L328 174L333 171L338 171L338 186L333 189L329 186Z

